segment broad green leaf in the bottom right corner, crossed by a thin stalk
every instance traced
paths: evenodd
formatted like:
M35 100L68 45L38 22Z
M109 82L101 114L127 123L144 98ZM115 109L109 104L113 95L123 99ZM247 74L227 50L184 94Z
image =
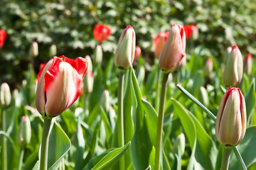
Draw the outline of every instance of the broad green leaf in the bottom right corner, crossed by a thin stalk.
M240 152L242 159L245 162L247 168L256 163L256 126L247 128L245 132L245 137L242 142L237 146L238 151ZM235 154L231 154L230 158L230 169L240 169L239 162L235 157Z

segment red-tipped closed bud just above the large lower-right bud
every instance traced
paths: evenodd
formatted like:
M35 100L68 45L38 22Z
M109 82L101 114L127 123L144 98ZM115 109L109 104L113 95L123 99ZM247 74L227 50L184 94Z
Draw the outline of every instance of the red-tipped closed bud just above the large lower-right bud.
M237 45L234 45L228 56L223 72L223 83L235 86L242 80L242 55Z

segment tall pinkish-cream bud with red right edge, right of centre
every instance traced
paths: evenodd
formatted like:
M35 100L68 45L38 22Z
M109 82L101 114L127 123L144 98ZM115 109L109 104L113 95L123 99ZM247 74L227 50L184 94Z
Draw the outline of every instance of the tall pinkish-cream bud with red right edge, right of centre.
M174 72L185 57L186 35L183 26L171 27L169 37L159 57L159 67L163 72Z

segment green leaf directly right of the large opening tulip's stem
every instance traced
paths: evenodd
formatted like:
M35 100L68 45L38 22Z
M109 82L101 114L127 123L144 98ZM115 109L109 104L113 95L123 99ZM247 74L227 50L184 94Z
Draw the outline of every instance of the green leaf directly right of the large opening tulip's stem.
M58 169L60 162L71 147L71 142L57 123L53 123L50 131L48 147L48 169Z

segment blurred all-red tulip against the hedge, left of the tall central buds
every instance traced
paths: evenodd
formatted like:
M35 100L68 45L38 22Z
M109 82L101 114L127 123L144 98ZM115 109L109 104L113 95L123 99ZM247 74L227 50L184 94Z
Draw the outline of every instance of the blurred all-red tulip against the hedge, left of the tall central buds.
M93 30L93 35L95 37L95 40L99 42L103 42L107 40L110 36L111 28L110 26L105 25L96 25Z

